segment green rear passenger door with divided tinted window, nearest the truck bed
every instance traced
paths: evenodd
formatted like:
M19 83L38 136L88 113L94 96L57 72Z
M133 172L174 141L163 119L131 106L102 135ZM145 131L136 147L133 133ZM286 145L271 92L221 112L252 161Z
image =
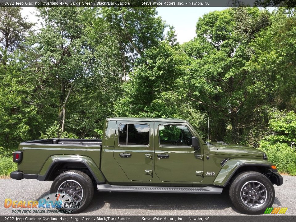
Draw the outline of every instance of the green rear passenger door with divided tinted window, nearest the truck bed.
M114 158L133 181L150 181L153 173L153 122L117 121Z

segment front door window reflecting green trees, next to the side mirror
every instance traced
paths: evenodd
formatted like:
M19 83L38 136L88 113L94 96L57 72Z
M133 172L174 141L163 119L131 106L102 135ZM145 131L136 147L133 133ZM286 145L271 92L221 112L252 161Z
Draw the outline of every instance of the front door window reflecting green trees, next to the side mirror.
M191 146L192 134L187 126L182 125L159 125L160 145Z

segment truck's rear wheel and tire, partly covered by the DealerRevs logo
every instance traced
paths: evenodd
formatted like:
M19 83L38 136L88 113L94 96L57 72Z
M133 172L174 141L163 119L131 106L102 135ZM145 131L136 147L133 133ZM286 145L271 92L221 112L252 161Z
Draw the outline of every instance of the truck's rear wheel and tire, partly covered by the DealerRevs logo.
M74 188L73 191L71 191L71 188L72 188L71 185ZM67 188L70 187L70 188L67 189L66 187ZM62 189L63 190L65 189L65 190L63 191ZM70 191L68 192L68 190ZM76 192L76 194L74 194L75 190L78 191ZM55 178L55 180L51 184L50 193L57 193L57 192L65 193L65 194L68 194L69 196L72 195L73 200L75 200L76 202L80 201L80 207L72 209L73 210L72 213L78 213L83 211L92 201L94 188L93 188L92 180L89 178L88 175L86 175L83 172L73 170L73 171L66 171L60 174L59 176L57 176L57 178ZM79 198L79 196L81 198Z

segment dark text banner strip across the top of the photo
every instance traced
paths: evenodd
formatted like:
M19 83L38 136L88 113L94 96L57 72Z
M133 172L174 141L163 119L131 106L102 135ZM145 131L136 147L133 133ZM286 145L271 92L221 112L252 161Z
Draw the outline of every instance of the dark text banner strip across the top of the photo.
M238 6L288 6L295 7L296 0L0 0L2 7L238 7Z

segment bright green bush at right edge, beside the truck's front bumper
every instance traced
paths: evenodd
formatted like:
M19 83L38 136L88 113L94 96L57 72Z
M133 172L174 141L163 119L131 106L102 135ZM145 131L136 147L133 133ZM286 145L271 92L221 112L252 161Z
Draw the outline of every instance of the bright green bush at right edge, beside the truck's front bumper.
M259 150L267 154L279 172L296 175L296 114L273 112L269 120L269 135L265 136Z

